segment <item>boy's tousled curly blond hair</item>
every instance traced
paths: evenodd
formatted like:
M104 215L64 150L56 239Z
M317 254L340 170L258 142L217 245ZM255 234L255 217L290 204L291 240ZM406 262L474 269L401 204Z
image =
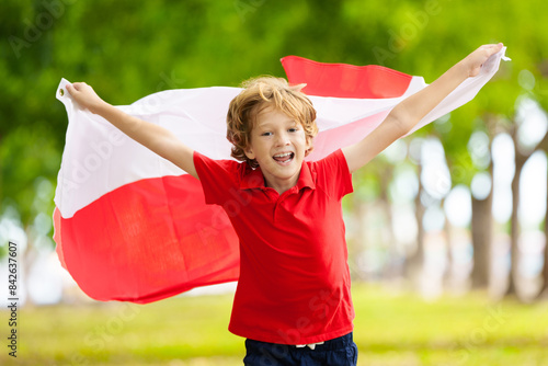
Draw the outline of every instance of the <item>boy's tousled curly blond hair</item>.
M256 116L267 107L285 113L302 126L310 146L306 155L310 153L318 126L312 102L300 91L304 85L289 85L287 80L275 77L259 77L242 83L243 90L230 102L227 114L227 139L233 145L232 158L247 161L251 168L259 165L244 151L250 145Z

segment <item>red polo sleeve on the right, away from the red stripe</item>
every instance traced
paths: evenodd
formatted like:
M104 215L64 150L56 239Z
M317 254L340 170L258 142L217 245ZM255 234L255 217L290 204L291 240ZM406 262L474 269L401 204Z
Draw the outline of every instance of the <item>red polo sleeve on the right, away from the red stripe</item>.
M317 184L330 196L342 198L354 192L349 163L341 149L316 162Z

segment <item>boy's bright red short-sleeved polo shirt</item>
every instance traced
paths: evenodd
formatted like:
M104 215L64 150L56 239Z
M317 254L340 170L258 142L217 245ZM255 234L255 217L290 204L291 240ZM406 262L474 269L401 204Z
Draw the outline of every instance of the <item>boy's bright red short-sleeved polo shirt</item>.
M229 330L248 339L309 344L352 331L341 198L352 179L341 150L304 162L279 195L259 169L194 153L206 203L225 208L240 239Z

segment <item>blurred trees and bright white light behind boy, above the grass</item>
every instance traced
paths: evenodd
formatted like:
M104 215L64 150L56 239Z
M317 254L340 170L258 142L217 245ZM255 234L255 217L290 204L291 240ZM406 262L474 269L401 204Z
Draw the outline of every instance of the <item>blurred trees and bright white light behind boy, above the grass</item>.
M12 240L23 309L98 306L61 268L53 241L67 126L55 100L61 78L87 81L117 105L167 89L283 77L287 55L383 65L432 82L492 42L503 42L512 61L471 102L354 174L355 193L343 203L349 264L357 286L410 291L425 304L476 290L490 301L546 304L544 1L4 0L0 9L0 279ZM535 344L548 347L548 318L538 321L546 336Z

